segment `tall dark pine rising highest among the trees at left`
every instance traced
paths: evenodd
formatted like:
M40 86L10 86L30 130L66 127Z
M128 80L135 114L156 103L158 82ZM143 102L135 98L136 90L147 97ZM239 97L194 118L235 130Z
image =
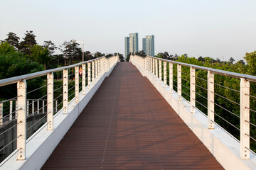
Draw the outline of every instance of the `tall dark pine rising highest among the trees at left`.
M33 45L36 45L36 35L33 34L33 30L27 30L18 50L23 52L25 55L31 55L31 47L33 47Z

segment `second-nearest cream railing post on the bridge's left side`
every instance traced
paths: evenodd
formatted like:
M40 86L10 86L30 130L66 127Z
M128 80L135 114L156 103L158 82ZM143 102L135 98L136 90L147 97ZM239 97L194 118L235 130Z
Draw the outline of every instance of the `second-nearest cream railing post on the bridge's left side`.
M47 130L53 130L53 72L47 74Z

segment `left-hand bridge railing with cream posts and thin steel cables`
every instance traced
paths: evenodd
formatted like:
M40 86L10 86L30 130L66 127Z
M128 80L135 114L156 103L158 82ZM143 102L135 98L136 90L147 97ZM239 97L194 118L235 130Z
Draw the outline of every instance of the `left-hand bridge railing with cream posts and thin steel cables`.
M80 92L85 93L85 91L82 91L82 89L86 89L87 92L90 91L90 89L97 83L97 81L105 75L104 73L109 72L110 69L112 69L114 64L116 64L117 62L118 56L109 57L107 59L105 57L99 57L94 60L73 64L67 67L58 67L57 69L50 69L38 73L0 80L0 86L6 86L14 83L18 84L18 95L16 97L0 101L0 126L3 126L4 128L4 120L6 120L6 118L8 117L10 117L11 120L11 118L13 118L13 115L15 115L15 120L13 121L17 121L18 123L15 123L14 125L11 125L11 127L6 127L6 129L3 129L3 131L0 133L0 137L6 135L14 128L17 128L17 130L13 131L17 133L15 135L18 137L25 136L26 134L24 134L23 132L28 133L28 135L26 135L27 137L33 134L33 137L35 137L35 135L43 129L41 128L39 130L42 123L43 127L50 127L50 124L53 123L53 115L58 115L60 111L62 111L62 113L67 113L69 108L68 105L73 100L73 98L77 98ZM97 66L95 66L95 63L97 63ZM94 66L92 66L92 64L94 64ZM79 67L82 67L83 70L83 73L81 75L79 75L79 72L77 72L77 68ZM67 81L71 77L75 79ZM23 84L30 85L32 81L28 80L36 78L39 78L41 85L37 87L32 86L33 88L31 88L31 86L28 86L29 91L26 92L27 87L23 86ZM68 94L68 96L66 94ZM27 95L30 98L31 96L36 96L36 98L24 98L24 96L27 97ZM86 94L82 95L85 96ZM13 101L15 103L13 103ZM75 103L76 102L77 101L75 101ZM23 116L17 116L23 113L26 114L25 118L23 118ZM33 116L35 117L31 119L31 117ZM46 123L44 122L45 120ZM26 121L31 121L30 123L28 123L28 128L26 128L25 125ZM48 130L50 130L50 128ZM9 145L11 145L11 143L18 143L18 141L21 140L20 138L19 140L17 140L18 137L13 138L11 142L6 143L4 147L1 148L1 153L6 152L6 149L9 149ZM25 139L25 143L28 143L33 137L30 137L29 140ZM21 150L23 149L26 149L26 145L21 145ZM14 149L12 148L11 150ZM17 153L17 159L26 159L23 155L23 152ZM5 157L8 156L7 153L5 155ZM2 160L0 160L0 162L1 161Z

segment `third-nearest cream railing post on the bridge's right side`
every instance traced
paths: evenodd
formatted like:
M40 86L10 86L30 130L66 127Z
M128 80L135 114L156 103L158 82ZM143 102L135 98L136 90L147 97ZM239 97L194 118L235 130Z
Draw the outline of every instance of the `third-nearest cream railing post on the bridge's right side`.
M195 113L196 108L196 69L191 67L190 70L190 104L191 113Z

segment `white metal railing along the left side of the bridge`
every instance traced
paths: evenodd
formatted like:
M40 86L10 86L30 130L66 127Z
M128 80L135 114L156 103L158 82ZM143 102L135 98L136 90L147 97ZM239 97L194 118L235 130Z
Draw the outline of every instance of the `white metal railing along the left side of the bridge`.
M56 69L49 69L43 72L36 72L33 74L26 74L18 77L11 77L9 79L1 79L0 86L6 86L9 84L17 84L17 96L14 98L7 99L5 101L0 101L0 126L3 127L4 118L7 120L16 119L16 124L13 125L5 133L12 128L17 128L17 134L14 135L14 140L11 140L8 144L0 149L3 151L8 145L16 141L16 152L18 153L17 159L26 159L26 143L27 141L27 130L32 128L33 125L46 118L47 130L53 130L53 115L63 111L63 114L68 114L68 104L71 100L75 98L75 103L80 101L79 94L86 95L87 91L90 91L92 86L105 74L109 72L110 69L119 61L119 56L112 56L109 58L99 57L94 60L89 60L86 62L80 62L78 64L73 64L67 67L60 67ZM82 74L80 74L80 69L82 69ZM73 72L70 74L70 72ZM55 79L54 73L62 74L62 79ZM47 77L46 77L47 76ZM44 79L45 86L38 87L36 89L31 89L27 92L27 81L30 79L36 79L41 77ZM72 79L74 77L74 79ZM60 86L54 86L55 84L60 84ZM69 86L71 86L69 88ZM38 90L44 89L46 94L37 99L28 99L27 95L35 93ZM69 92L74 91L73 94ZM58 96L54 96L55 93L59 93ZM4 105L8 103L8 113L4 111ZM36 103L36 111L34 104ZM41 107L40 107L41 103ZM15 104L15 106L14 106ZM31 108L31 114L28 112ZM27 128L26 121L27 118L35 113L45 113L40 120ZM13 111L14 110L14 111Z

